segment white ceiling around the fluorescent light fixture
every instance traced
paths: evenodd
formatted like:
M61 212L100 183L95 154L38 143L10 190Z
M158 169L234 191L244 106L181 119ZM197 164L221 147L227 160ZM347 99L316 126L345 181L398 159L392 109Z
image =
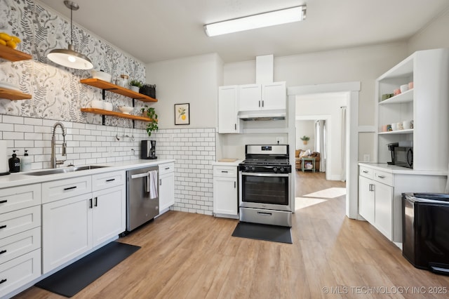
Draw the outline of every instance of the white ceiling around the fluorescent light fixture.
M63 0L40 0L70 18ZM142 62L218 53L224 62L402 41L448 0L75 0L73 21ZM307 4L307 19L208 37L203 25Z

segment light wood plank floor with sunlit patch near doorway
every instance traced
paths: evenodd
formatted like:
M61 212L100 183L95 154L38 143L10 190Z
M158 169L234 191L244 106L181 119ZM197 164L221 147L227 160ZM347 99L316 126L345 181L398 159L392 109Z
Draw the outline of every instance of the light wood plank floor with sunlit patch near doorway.
M344 187L323 173L296 175L304 198ZM347 218L344 195L297 210L293 244L232 237L236 223L170 211L121 238L142 248L74 298L448 298L449 277L417 270L368 223ZM36 287L16 297L62 298Z

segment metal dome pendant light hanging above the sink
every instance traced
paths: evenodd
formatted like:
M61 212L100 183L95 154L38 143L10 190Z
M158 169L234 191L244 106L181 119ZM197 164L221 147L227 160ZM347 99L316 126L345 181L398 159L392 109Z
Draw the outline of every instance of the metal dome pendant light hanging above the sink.
M86 55L74 51L73 47L73 11L78 11L79 5L73 1L64 1L65 6L70 8L70 44L68 49L55 49L47 54L47 58L58 65L72 69L92 69L93 64Z

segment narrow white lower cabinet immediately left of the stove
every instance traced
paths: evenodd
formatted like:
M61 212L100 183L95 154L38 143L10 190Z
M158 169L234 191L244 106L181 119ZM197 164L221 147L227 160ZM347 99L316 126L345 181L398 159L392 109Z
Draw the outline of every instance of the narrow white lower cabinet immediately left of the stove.
M213 166L213 213L216 217L239 218L236 166Z

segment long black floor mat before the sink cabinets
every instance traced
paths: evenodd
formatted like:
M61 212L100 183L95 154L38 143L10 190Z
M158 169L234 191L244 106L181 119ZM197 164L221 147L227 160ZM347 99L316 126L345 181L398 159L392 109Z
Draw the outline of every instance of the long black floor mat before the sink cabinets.
M72 265L51 274L35 286L65 297L72 297L139 248L140 246L111 242Z

